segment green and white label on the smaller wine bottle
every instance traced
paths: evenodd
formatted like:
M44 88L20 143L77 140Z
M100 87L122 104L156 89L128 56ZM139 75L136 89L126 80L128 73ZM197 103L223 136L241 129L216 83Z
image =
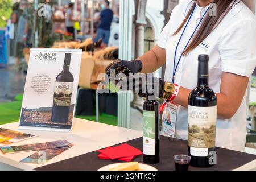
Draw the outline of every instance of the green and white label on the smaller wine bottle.
M143 154L155 155L155 111L143 111Z

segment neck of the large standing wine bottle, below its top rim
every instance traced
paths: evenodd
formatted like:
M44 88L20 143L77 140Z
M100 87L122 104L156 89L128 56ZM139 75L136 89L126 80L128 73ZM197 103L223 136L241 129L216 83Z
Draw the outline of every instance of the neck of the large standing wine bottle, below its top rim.
M197 86L208 86L209 82L209 65L208 61L199 61Z

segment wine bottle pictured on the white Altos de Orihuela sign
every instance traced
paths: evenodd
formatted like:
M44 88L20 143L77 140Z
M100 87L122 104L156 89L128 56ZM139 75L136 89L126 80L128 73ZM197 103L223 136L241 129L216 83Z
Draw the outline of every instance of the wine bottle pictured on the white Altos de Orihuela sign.
M52 122L67 123L71 105L74 77L69 72L71 53L65 53L63 70L56 77L52 106Z

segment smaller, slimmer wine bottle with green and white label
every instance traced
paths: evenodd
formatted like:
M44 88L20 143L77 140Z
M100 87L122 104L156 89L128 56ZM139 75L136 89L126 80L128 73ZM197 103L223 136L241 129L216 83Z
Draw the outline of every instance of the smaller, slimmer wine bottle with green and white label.
M143 162L159 163L159 103L147 94L143 104Z

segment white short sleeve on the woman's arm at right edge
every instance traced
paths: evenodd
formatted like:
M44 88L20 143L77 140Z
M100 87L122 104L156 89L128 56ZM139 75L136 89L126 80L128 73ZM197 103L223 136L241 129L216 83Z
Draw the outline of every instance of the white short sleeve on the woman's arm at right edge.
M220 38L222 72L250 77L256 67L256 21L241 20Z

